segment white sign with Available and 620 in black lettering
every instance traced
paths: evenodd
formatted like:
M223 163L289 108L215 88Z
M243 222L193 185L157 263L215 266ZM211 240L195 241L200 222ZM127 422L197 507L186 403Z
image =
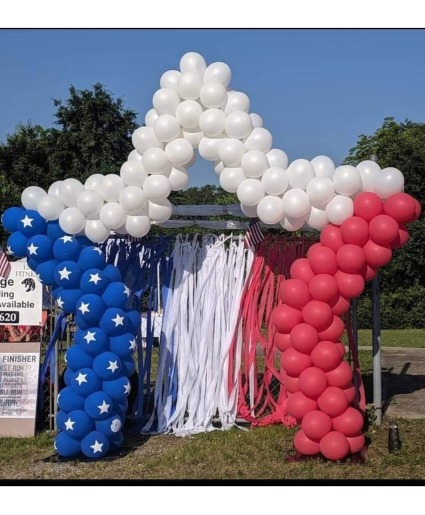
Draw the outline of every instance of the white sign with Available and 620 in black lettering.
M43 285L27 261L14 261L0 278L0 325L43 325Z

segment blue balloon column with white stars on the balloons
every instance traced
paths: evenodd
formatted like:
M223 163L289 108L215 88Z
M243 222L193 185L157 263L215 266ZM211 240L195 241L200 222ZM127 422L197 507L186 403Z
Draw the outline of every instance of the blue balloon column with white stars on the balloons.
M57 399L55 449L66 458L102 458L123 444L140 313L127 309L131 292L119 269L87 238L65 234L57 221L20 207L7 209L2 224L12 233L9 252L27 258L77 326Z

